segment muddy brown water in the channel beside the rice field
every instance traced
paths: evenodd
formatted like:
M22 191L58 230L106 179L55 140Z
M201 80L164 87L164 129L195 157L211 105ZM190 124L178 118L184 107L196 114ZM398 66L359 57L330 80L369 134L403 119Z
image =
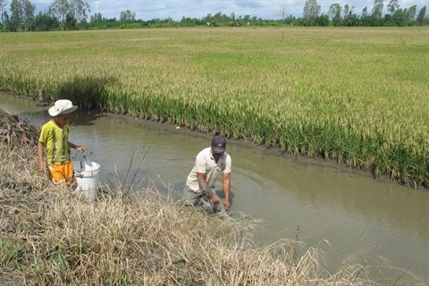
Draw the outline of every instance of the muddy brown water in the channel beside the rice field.
M47 107L21 97L0 93L0 108L38 126L48 120ZM177 193L198 151L209 146L206 135L172 125L81 112L71 122L70 140L101 164L104 181L124 179L130 168L129 179L135 175L141 185ZM306 248L326 252L324 267L331 271L348 259L363 265L389 262L429 283L429 191L238 142L229 142L227 151L233 164L232 215L260 220L257 243L295 239L299 228Z

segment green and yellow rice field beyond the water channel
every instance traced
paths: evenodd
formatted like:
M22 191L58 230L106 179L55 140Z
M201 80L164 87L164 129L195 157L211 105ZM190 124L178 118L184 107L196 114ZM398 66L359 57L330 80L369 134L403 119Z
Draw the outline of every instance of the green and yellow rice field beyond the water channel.
M4 33L0 88L429 186L428 28Z

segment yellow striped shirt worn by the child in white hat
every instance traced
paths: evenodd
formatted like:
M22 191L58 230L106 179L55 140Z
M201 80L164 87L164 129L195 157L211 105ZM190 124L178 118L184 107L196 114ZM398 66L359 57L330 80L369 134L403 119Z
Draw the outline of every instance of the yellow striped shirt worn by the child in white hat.
M70 161L69 125L60 128L54 121L42 126L40 138L46 147L47 164L66 164Z

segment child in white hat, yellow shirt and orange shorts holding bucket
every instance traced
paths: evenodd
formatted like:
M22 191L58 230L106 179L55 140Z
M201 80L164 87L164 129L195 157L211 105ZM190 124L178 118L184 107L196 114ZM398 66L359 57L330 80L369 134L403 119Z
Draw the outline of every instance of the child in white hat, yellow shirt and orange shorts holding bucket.
M46 148L46 162L50 179L55 184L73 185L76 182L73 164L70 160L70 148L84 152L82 146L69 142L69 122L71 113L78 106L72 105L68 99L55 101L55 105L49 108L52 120L43 125L38 139L38 167L40 171L46 171L46 163L43 158Z

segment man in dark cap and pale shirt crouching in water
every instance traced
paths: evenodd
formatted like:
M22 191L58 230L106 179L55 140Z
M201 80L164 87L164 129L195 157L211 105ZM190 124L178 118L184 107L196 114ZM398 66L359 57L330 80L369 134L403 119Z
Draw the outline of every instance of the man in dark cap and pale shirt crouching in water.
M214 182L222 172L224 209L231 208L231 156L225 152L225 147L226 139L218 135L212 139L211 147L198 153L183 190L186 205L196 206L208 214L222 212L221 198L214 190Z

